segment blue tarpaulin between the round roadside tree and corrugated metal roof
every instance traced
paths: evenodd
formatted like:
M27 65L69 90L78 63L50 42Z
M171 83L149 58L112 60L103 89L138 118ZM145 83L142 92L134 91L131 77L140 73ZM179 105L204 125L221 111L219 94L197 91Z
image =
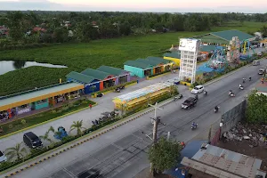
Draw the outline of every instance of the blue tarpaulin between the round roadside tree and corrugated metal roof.
M185 167L181 164L182 158L192 158L200 149L201 145L203 143L206 143L207 141L192 141L189 142L185 148L181 151L181 158L178 159L178 164L171 170L167 170L165 174L172 175L176 178L185 178L185 175L182 175L182 168ZM177 169L178 168L178 169ZM186 173L187 174L187 173Z

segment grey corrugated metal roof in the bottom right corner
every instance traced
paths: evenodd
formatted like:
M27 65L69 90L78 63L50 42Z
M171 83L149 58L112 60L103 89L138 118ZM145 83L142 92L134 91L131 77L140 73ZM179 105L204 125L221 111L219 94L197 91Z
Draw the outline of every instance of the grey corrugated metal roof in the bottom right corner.
M231 174L233 176L229 177L252 178L260 169L262 160L207 144L206 149L198 150L191 160L182 160L183 165L188 166L187 163L200 172L205 166L206 173L212 175Z

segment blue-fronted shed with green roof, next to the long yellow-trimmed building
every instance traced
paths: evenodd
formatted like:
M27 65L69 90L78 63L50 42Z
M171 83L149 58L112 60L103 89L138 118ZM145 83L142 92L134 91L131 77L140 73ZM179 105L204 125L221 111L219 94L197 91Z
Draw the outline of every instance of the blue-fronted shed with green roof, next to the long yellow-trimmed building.
M99 79L75 71L70 72L66 77L68 81L85 85L85 94L100 91Z

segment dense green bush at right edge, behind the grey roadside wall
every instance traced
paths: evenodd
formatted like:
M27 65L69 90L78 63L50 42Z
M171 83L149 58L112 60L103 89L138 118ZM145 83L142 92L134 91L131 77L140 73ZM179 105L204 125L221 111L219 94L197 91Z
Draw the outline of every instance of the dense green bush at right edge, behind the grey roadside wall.
M247 122L255 124L267 123L267 96L253 93L248 97L246 109Z

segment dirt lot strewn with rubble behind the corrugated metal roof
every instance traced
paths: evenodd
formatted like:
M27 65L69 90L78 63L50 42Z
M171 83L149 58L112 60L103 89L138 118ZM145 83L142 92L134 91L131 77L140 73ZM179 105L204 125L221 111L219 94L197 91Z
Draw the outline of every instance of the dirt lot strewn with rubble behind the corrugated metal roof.
M267 171L267 125L236 125L224 134L226 142L218 147L263 160L262 169Z

